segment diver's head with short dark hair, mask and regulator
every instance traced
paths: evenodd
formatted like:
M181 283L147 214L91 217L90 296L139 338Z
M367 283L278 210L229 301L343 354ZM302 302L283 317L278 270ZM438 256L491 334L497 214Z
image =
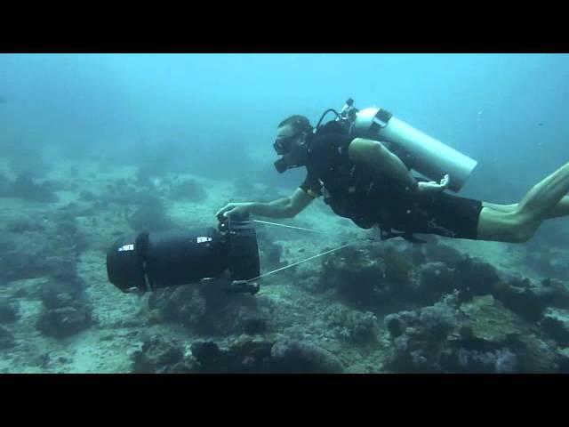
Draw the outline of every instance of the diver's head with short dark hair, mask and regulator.
M306 165L307 138L312 134L309 119L304 116L291 116L284 119L276 128L273 148L281 156L275 162L276 171L284 173L287 169Z

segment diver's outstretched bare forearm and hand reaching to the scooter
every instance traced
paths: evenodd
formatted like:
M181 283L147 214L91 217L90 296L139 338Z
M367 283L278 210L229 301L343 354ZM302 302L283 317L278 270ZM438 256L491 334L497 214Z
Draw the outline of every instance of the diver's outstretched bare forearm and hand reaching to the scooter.
M300 214L310 202L314 200L302 189L296 189L291 197L283 197L268 203L246 202L229 203L222 207L216 215L236 214L237 212L248 212L252 215L265 216L268 218L293 218Z

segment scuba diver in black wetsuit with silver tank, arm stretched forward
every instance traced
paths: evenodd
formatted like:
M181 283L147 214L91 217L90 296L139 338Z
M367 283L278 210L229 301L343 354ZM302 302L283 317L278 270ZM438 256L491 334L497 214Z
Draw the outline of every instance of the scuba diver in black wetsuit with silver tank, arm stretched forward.
M336 118L320 125L332 111ZM328 109L316 127L294 115L276 128L278 173L305 166L306 179L290 197L269 203L229 203L217 216L251 214L293 218L318 197L335 214L381 238L421 242L414 233L523 243L541 222L569 215L569 163L537 183L519 203L499 205L458 197L477 162L385 109L357 110L349 99L341 113ZM412 173L415 170L429 179Z

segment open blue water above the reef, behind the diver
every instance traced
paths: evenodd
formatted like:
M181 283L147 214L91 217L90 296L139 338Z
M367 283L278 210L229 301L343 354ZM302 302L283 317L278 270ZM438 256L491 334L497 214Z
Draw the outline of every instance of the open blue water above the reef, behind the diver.
M202 164L227 157L217 173L230 178L263 167L235 151L272 162L284 117L316 122L352 97L475 157L465 194L501 201L566 161L568 72L565 54L2 54L0 125L4 145L85 155L169 141ZM289 175L278 181L301 172Z

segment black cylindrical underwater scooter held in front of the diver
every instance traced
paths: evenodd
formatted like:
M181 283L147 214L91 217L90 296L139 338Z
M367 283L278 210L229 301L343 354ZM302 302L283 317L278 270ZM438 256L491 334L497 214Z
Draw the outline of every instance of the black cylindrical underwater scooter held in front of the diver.
M204 281L230 293L256 294L257 236L248 215L219 217L218 228L140 232L118 238L107 253L108 280L124 293Z

